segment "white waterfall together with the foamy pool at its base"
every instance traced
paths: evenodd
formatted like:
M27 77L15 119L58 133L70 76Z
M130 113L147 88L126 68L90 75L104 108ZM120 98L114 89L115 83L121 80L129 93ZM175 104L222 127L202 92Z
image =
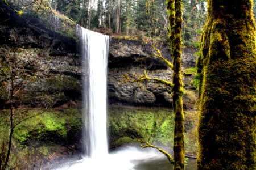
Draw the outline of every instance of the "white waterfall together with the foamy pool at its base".
M85 151L80 160L67 160L57 165L56 170L141 170L170 169L171 165L163 154L156 150L138 150L127 147L108 154L106 130L106 71L109 36L81 28L82 57L84 57L84 112ZM159 164L160 159L167 162ZM150 164L151 163L151 164ZM141 164L141 165L140 165ZM144 168L141 167L143 164ZM159 164L159 165L158 165ZM155 167L156 166L156 167Z

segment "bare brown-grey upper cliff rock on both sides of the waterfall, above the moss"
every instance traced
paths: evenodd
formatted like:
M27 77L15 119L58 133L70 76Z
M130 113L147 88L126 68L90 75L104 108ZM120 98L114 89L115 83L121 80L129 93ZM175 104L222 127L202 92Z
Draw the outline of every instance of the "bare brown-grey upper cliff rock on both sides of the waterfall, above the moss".
M82 61L79 43L45 28L31 27L16 14L4 15L0 24L1 66L13 67L14 83L20 88L16 101L27 107L42 105L68 107L81 101ZM158 44L169 61L167 42ZM125 75L147 75L171 82L172 70L154 57L150 43L139 40L112 38L108 59L108 102L109 104L172 107L171 88L154 81L125 83ZM195 50L183 50L183 69L195 67ZM10 59L14 65L10 66ZM2 73L0 105L6 106L7 76ZM183 76L187 90L193 75ZM192 94L195 96L195 94ZM75 101L75 103L73 102ZM184 95L184 107L191 108L195 97Z

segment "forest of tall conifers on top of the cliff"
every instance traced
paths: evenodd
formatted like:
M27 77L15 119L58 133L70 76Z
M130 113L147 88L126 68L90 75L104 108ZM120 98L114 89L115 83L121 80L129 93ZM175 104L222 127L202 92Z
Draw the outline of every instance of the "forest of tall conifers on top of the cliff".
M100 28L107 28L105 32L109 34L168 40L166 29L168 14L165 1L150 1L148 10L144 0L49 0L49 2L53 9L86 29L99 31ZM196 48L203 33L207 3L205 0L183 0L182 3L183 46ZM254 16L255 8L254 0Z

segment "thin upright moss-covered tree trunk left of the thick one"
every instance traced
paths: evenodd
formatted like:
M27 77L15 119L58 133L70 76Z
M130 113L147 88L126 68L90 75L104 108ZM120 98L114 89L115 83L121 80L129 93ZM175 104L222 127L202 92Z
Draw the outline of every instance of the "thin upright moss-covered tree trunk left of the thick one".
M173 56L172 77L173 105L174 105L174 169L184 169L184 114L183 114L183 83L181 78L181 0L167 1L169 32L170 32L170 48Z

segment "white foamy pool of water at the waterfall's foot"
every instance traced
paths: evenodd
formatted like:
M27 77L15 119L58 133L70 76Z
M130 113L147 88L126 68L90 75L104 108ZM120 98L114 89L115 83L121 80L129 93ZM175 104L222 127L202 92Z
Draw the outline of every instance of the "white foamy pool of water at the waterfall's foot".
M55 165L55 170L165 170L172 169L166 156L154 148L126 147L100 158L82 158ZM196 159L189 159L186 170L196 169Z

